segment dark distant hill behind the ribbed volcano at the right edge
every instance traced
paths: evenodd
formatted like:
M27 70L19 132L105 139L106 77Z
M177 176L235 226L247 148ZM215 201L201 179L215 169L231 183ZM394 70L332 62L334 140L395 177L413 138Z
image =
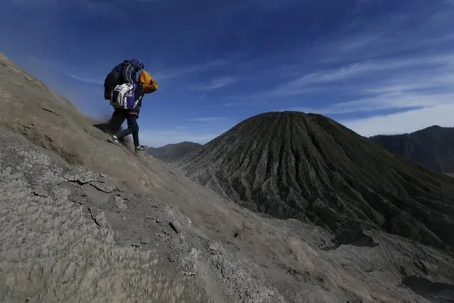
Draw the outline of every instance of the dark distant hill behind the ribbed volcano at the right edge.
M369 138L393 154L443 174L454 173L454 128L431 126L411 134Z

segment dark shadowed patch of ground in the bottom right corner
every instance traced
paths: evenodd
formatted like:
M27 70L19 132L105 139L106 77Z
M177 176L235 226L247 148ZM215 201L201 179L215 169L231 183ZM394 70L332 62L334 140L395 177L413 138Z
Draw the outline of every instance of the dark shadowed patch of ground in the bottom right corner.
M406 277L402 284L434 303L454 303L454 285L431 282L423 277Z

